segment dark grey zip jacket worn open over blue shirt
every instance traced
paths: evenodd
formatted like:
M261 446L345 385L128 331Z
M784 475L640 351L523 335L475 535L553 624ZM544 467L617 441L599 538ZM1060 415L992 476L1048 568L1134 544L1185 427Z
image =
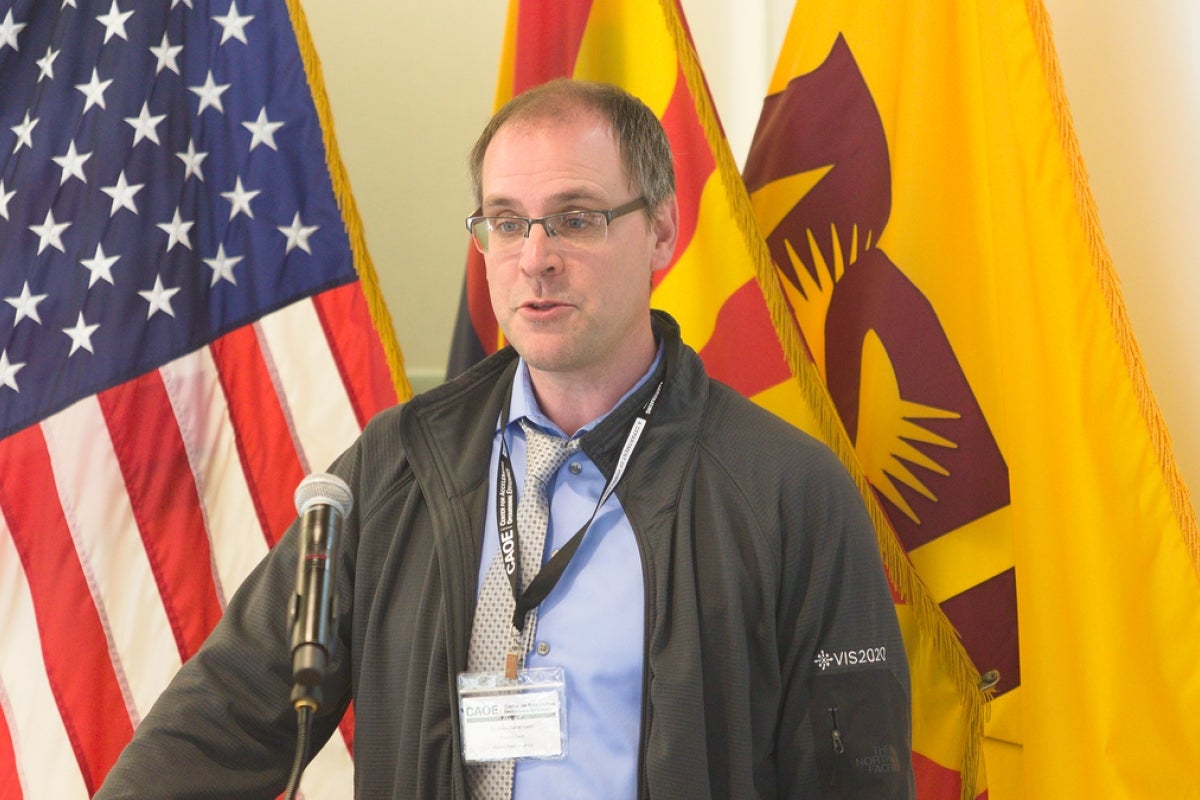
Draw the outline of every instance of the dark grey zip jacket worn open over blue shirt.
M655 332L666 385L617 488L646 585L641 796L912 796L907 663L856 487L822 444L709 380L658 312ZM354 698L359 798L466 796L455 679L515 363L504 350L378 415L334 465L355 509L316 728L328 738ZM656 383L584 437L606 475ZM98 798L277 795L295 739L295 547L293 527Z

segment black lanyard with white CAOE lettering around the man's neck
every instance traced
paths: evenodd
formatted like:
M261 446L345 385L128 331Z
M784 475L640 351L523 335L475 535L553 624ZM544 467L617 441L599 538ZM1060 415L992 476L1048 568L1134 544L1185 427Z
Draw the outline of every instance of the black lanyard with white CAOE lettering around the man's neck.
M637 417L634 420L634 425L629 429L629 435L625 437L625 444L620 449L620 457L617 459L617 468L612 473L612 477L605 485L604 492L600 494L600 500L596 503L595 509L592 510L592 516L588 521L583 523L570 541L558 549L557 553L542 566L542 569L534 576L533 581L526 590L521 591L521 567L520 567L520 553L521 553L521 533L517 530L516 515L514 513L514 479L512 479L512 462L509 458L509 449L504 441L504 428L508 426L508 414L500 420L500 458L497 464L496 474L496 523L499 529L500 535L500 554L504 561L504 571L508 573L509 584L512 587L512 597L516 601L516 609L512 613L512 627L518 634L524 633L526 614L541 604L554 587L558 585L559 578L566 571L566 566L571 563L571 558L575 557L575 552L580 548L580 543L583 541L583 535L587 533L588 528L595 521L596 515L600 512L600 507L604 506L605 501L612 494L613 489L617 488L617 483L620 481L622 475L625 473L625 467L629 465L629 459L634 455L634 449L637 446L638 439L642 437L642 431L646 429L647 422L649 422L650 414L654 413L654 405L658 403L659 393L662 391L662 381L659 381L658 387L650 396L650 399L638 411Z

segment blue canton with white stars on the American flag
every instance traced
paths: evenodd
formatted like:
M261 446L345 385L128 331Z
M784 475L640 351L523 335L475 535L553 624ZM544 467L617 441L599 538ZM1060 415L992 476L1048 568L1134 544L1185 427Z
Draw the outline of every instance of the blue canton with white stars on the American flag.
M0 437L355 278L286 4L0 2Z

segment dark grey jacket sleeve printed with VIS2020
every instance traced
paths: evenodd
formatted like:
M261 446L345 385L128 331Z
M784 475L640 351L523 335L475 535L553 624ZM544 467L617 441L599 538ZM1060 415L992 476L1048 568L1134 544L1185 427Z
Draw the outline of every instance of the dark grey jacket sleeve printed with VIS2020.
M908 800L916 796L908 664L874 527L848 474L823 447L792 486L780 795L800 796L816 781L822 800Z

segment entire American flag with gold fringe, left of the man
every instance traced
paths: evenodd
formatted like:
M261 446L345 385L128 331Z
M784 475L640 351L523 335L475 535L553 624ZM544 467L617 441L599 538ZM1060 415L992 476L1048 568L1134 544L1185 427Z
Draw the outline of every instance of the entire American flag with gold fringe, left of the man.
M407 391L330 127L296 0L0 2L0 798L95 793Z

